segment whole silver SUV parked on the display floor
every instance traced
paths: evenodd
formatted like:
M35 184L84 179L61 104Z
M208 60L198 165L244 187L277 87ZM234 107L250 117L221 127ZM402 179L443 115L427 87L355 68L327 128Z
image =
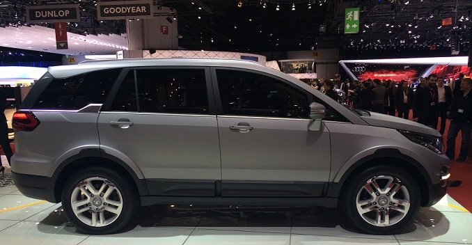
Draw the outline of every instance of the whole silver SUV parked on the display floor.
M13 116L13 180L91 234L139 205L340 207L392 234L445 194L441 134L343 106L251 61L130 59L58 66Z

